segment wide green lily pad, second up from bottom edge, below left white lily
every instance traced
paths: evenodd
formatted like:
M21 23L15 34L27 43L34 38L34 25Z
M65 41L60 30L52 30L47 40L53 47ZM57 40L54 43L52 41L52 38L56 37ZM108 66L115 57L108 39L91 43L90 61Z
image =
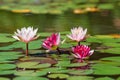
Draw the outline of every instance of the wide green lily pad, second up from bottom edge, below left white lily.
M47 72L43 71L34 71L34 70L26 70L26 71L16 71L14 75L17 76L43 76L46 75Z

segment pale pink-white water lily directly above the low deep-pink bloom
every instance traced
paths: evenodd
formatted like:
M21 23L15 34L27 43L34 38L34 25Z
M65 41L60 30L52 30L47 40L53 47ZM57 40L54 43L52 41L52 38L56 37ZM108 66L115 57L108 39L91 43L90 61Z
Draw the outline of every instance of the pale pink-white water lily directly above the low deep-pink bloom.
M79 43L86 38L86 33L87 29L83 30L82 27L76 27L71 29L71 34L67 35L67 37Z

